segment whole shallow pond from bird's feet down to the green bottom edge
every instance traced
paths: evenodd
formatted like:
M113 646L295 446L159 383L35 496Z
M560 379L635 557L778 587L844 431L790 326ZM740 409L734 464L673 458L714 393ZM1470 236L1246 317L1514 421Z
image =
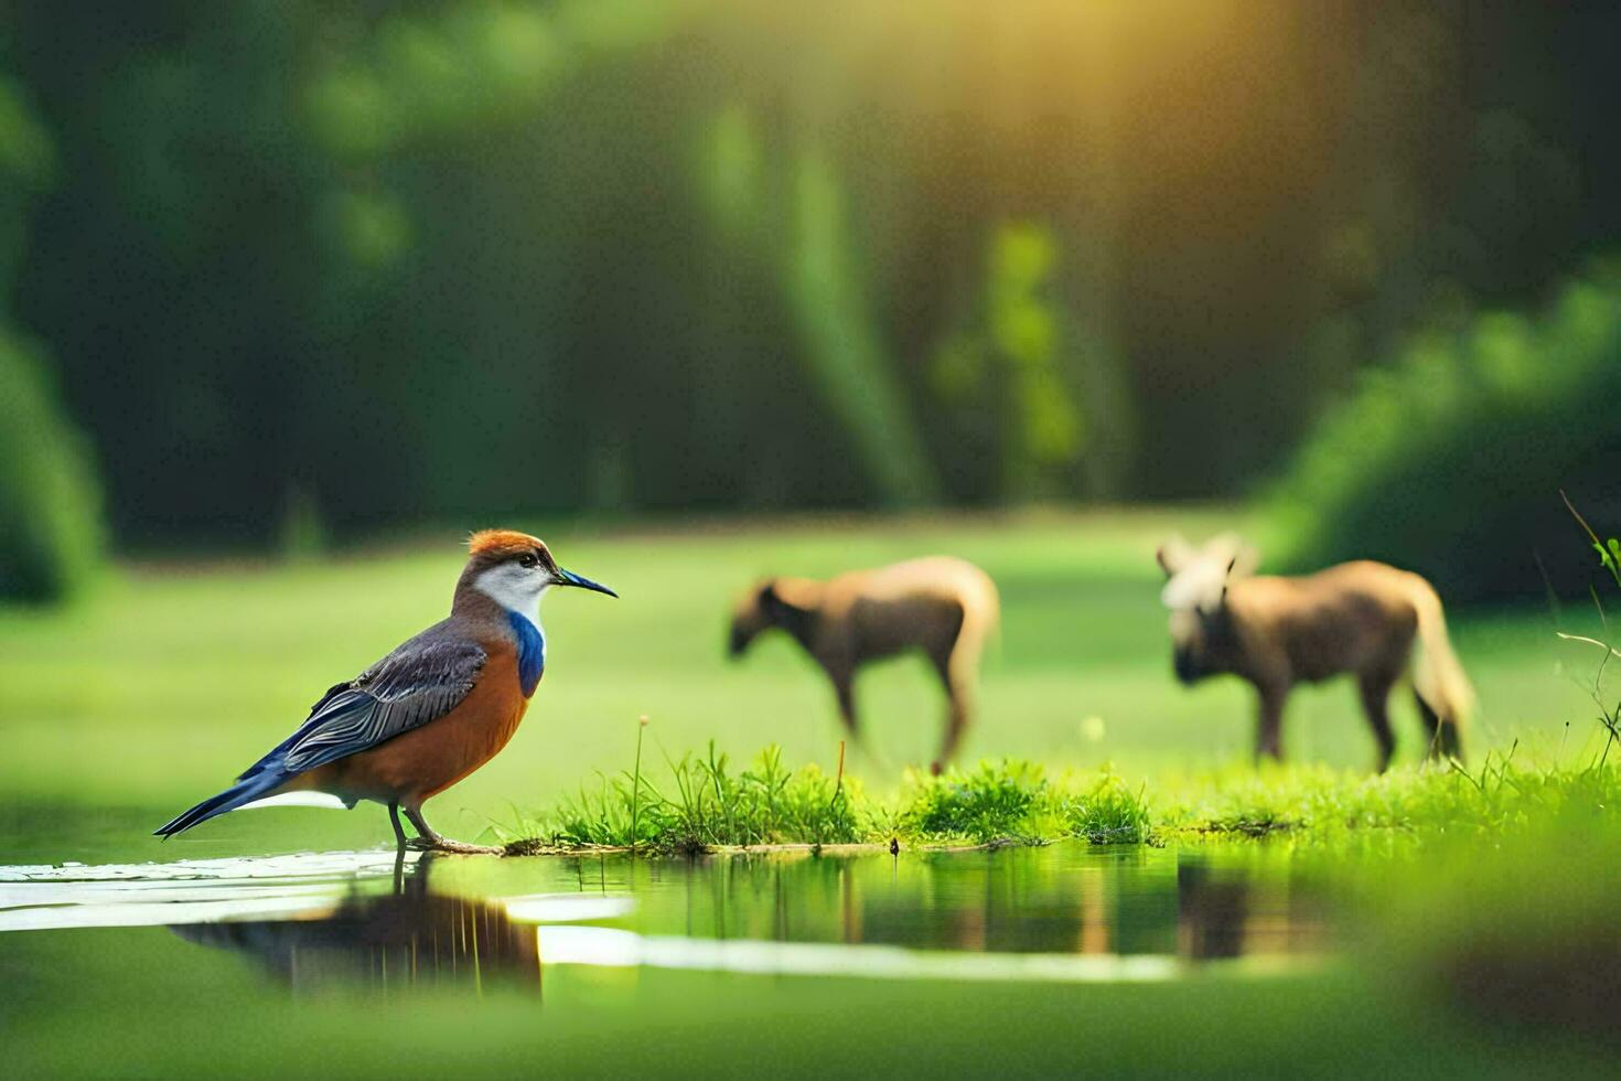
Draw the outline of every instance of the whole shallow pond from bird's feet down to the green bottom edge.
M1264 844L242 857L65 822L83 859L0 865L21 1075L1553 1062L1370 985L1341 893Z

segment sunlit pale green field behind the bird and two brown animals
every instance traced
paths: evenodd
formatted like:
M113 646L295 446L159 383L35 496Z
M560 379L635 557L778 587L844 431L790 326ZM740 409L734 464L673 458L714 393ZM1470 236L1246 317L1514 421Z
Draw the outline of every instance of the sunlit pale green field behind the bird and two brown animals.
M512 807L551 805L595 771L629 767L639 715L652 718L655 770L661 750L679 755L710 739L744 758L775 742L789 765L832 768L841 733L820 673L781 635L728 663L726 609L762 574L825 575L922 553L979 562L1002 590L1003 627L964 760L1008 755L1049 770L1112 762L1128 778L1243 762L1250 692L1230 679L1193 690L1172 681L1153 562L1170 530L1198 536L1235 522L1213 511L1133 511L541 528L564 566L613 585L621 600L548 600L550 664L524 728L430 810L441 830L465 836L491 817L511 820ZM216 791L329 684L443 616L459 540L447 532L438 543L300 566L143 562L123 566L84 606L0 616L0 791L34 807L154 814ZM1568 609L1574 629L1592 629L1571 617ZM1593 658L1553 627L1542 609L1452 614L1480 690L1477 755L1519 741L1520 755L1553 760L1590 739L1582 681ZM870 747L853 754L849 770L869 791L887 791L903 767L932 755L942 700L914 660L869 671L858 694ZM1401 760L1410 762L1417 718L1405 702L1396 711ZM1342 684L1297 692L1285 737L1297 760L1371 760ZM250 831L272 848L297 846L300 836L280 838L277 823L298 822L302 835L314 814L232 825L248 818L237 815L195 836L227 843ZM384 840L381 814L350 818L340 827L347 840Z

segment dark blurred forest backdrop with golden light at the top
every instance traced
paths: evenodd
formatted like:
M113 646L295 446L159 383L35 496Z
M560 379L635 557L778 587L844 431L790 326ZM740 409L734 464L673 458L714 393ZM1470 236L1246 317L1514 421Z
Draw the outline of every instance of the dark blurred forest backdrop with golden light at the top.
M0 464L6 593L78 574L16 553L94 538L99 486L136 548L1204 498L1328 413L1297 476L1341 455L1410 494L1435 441L1363 467L1371 407L1337 404L1386 368L1405 394L1436 327L1564 303L1621 227L1597 3L175 0L0 26L0 381L28 387L0 459L42 459ZM1477 405L1499 423L1574 357L1561 332L1514 331L1506 389L1448 407L1448 468ZM1465 382L1495 363L1454 352ZM1558 412L1582 399L1538 431L1602 423ZM1538 438L1425 499L1527 467L1516 499L1546 501L1556 455L1600 442ZM1587 506L1621 511L1618 475L1587 468ZM1409 514L1358 491L1358 522ZM1347 546L1331 517L1297 559ZM1422 562L1459 515L1401 520L1379 553Z

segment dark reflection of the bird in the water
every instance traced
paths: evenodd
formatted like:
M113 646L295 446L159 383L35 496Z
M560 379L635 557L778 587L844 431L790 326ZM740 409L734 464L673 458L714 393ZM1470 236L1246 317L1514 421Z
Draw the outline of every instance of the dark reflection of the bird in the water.
M499 901L433 893L431 857L381 896L350 895L318 919L245 921L172 927L198 945L258 959L293 990L327 985L467 987L540 990L533 924L514 922Z

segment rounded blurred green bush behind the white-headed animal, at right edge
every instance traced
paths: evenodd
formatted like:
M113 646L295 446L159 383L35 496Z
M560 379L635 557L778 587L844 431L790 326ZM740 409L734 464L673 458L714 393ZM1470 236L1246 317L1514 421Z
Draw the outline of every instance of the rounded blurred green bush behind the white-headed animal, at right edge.
M1448 600L1587 588L1558 493L1621 519L1621 267L1568 282L1537 319L1477 313L1418 332L1358 384L1272 493L1279 566L1386 559Z

